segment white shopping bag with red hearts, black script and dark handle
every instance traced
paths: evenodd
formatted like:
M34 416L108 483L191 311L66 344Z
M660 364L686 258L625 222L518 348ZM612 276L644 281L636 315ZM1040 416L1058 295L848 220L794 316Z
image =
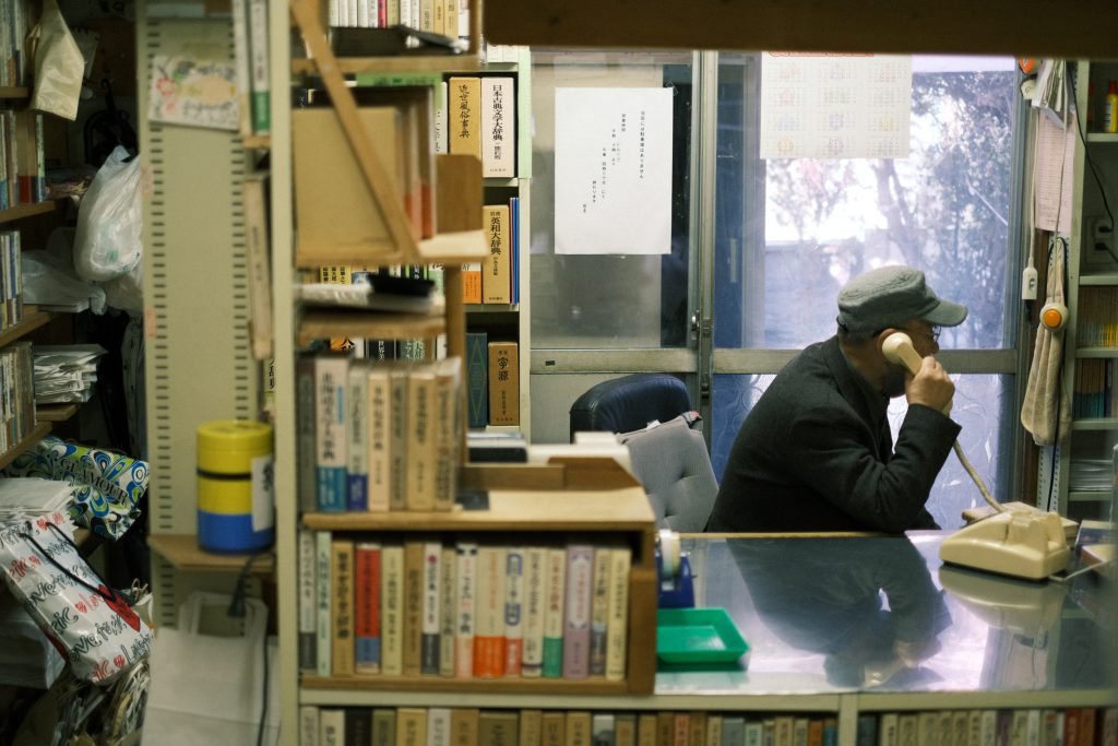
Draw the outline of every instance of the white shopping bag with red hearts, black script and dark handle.
M146 658L151 629L120 593L107 587L74 546L61 513L0 529L0 567L74 676L111 681Z

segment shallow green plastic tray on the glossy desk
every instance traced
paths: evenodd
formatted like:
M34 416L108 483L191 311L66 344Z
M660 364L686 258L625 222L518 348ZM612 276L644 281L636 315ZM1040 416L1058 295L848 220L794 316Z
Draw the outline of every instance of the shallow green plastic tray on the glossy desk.
M665 663L732 663L747 650L724 608L656 612L656 658Z

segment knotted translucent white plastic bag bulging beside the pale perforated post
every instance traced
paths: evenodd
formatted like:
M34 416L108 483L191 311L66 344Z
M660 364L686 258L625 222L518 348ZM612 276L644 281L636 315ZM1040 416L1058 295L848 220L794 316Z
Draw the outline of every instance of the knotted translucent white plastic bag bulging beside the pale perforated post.
M77 211L74 268L83 280L104 282L132 270L143 251L140 157L131 162L117 145L93 177Z

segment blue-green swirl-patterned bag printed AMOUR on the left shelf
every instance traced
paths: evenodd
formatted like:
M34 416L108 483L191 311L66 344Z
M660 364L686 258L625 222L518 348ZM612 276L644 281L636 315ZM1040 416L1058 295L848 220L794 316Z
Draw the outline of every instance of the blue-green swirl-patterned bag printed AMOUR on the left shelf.
M119 539L140 514L148 490L148 462L48 435L4 469L9 476L42 476L74 487L74 522Z

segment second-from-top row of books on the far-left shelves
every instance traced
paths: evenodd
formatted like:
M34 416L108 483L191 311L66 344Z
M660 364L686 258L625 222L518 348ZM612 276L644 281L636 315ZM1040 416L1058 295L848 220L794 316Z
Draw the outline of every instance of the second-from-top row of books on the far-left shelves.
M0 111L0 210L47 198L42 138L42 114Z

